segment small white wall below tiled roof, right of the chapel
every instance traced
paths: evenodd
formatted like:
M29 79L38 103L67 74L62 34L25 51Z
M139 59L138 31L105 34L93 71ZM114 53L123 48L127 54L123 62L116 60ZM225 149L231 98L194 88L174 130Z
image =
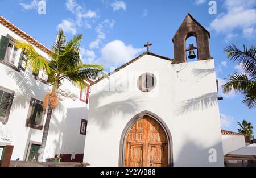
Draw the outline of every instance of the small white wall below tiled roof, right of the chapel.
M244 135L222 135L223 153L226 155L229 152L245 147Z

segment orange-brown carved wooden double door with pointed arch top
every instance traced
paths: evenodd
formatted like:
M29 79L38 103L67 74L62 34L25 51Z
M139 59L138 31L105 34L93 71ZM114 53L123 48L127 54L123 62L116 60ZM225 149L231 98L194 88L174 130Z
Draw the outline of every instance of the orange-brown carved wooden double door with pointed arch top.
M168 166L168 141L163 127L153 118L138 119L125 143L125 166Z

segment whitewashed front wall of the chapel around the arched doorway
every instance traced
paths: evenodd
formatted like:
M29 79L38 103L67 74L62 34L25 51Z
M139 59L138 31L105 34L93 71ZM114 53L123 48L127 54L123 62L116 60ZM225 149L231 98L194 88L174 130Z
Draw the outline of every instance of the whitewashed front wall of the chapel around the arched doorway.
M145 72L157 78L156 88L148 93L137 88L137 79ZM112 92L104 91L112 82ZM114 91L122 82L134 90ZM144 110L158 115L168 126L174 166L224 165L213 59L171 64L143 56L112 74L110 80L93 85L90 101L84 162L92 166L118 166L122 131ZM208 160L210 148L217 152L216 163Z

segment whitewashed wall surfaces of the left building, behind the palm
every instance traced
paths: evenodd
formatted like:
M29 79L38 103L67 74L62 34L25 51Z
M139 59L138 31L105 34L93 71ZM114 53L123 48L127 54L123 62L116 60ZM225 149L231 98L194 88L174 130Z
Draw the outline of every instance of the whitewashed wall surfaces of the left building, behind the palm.
M23 40L13 31L0 24L0 36L11 35L16 40ZM54 40L54 39L53 39ZM46 53L34 47L40 55L46 57ZM19 50L18 55L20 55ZM14 65L18 65L18 60ZM31 97L43 101L44 94L49 92L49 86L35 80L28 71L17 72L6 65L0 63L0 86L15 92L13 105L11 107L8 122L3 125L0 122L0 136L11 138L11 143L0 142L0 146L6 144L14 145L11 160L25 160L30 141L41 142L43 130L26 127L28 107ZM55 154L82 154L84 152L85 135L80 135L81 119L86 119L88 114L88 104L79 100L80 89L76 88L68 81L64 81L61 88L68 89L77 95L77 100L66 98L61 101L55 109L46 145L44 158L52 158ZM46 115L44 122L46 121Z

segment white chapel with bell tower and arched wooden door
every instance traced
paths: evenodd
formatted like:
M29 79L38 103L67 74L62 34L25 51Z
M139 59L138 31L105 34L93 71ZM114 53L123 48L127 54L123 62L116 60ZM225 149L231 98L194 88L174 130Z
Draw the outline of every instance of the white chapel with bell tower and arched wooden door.
M185 40L190 36L197 38L198 60L187 62ZM94 82L84 162L223 166L209 38L188 14L173 38L174 61L147 51L110 73L109 80Z

